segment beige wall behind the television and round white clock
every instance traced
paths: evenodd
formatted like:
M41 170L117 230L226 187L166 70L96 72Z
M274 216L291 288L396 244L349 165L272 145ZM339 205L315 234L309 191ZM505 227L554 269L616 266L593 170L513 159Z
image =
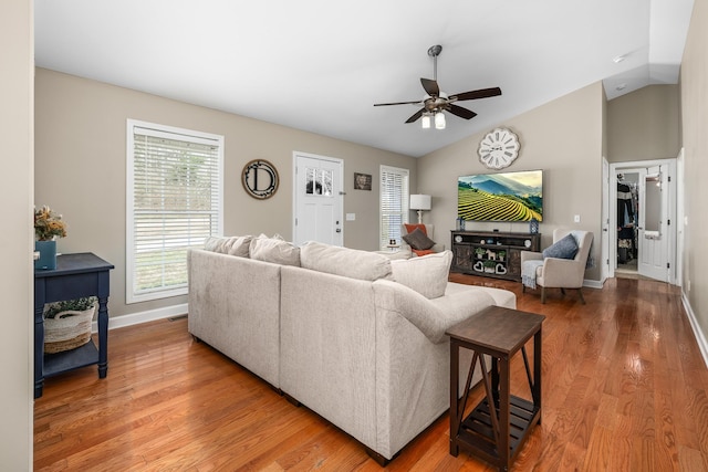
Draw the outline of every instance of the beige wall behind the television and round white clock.
M511 128L521 141L519 157L504 171L543 169L542 245L551 243L555 228L592 231L592 254L597 262L585 279L595 281L600 281L604 102L602 85L596 83L498 125ZM435 223L436 240L448 248L457 218L457 177L492 172L477 155L485 133L424 156L418 162L418 191L434 197L426 221ZM580 223L573 221L575 214L580 214ZM528 223L471 224L477 230L529 231Z

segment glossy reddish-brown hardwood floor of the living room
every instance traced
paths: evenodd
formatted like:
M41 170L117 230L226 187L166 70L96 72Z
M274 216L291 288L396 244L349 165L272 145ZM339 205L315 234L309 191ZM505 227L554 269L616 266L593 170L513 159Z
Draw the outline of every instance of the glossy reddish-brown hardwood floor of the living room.
M708 470L708 370L678 289L611 279L585 289L521 293L500 286L543 325L543 416L514 471ZM532 353L532 349L529 349ZM512 389L527 396L520 356ZM524 390L525 388L525 390ZM476 388L473 402L482 391ZM392 471L487 471L448 454L447 416L387 466ZM327 421L187 333L185 318L110 333L108 376L87 367L45 382L34 405L40 471L361 470L381 468Z

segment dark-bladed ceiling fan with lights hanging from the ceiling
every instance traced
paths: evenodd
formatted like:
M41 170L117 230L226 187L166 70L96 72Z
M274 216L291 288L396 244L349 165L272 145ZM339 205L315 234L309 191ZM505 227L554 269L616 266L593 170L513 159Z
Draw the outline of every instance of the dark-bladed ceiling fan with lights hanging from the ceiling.
M471 109L464 108L455 105L455 102L462 102L466 99L487 98L491 96L501 95L501 88L480 88L478 91L462 92L459 94L447 95L440 91L438 86L438 55L442 51L442 46L436 44L428 49L428 55L433 57L433 74L434 78L420 78L423 88L426 95L423 99L412 102L395 102L395 103L375 103L374 106L388 106L388 105L420 105L418 109L410 118L406 119L406 123L416 122L423 117L423 127L430 127L430 118L435 117L435 127L438 129L445 128L445 115L442 112L450 112L455 116L460 118L470 119L477 116Z

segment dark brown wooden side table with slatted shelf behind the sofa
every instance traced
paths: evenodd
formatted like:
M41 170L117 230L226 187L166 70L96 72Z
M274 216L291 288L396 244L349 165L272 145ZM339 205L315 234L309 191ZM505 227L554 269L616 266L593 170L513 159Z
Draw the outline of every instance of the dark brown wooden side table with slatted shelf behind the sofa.
M450 329L450 454L459 448L507 471L527 439L541 422L541 325L545 316L490 306ZM533 337L533 377L525 344ZM460 348L473 350L462 398L459 398ZM521 349L532 400L510 394L510 360ZM491 380L483 355L492 358ZM479 364L486 398L464 418L469 387ZM493 405L493 408L490 408Z

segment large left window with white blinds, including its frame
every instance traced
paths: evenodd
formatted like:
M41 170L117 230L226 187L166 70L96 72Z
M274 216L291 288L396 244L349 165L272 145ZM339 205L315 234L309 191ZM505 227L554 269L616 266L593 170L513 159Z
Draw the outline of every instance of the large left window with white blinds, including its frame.
M222 234L223 136L127 120L126 303L187 293L187 250Z

